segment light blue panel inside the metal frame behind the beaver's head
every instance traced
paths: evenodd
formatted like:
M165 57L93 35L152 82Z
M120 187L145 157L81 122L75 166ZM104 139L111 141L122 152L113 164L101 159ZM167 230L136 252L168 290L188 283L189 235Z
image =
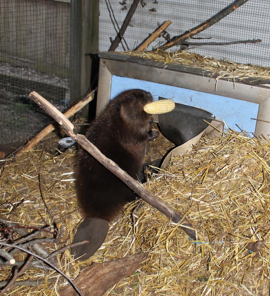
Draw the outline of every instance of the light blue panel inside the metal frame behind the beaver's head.
M249 133L255 131L256 121L251 118L257 118L259 104L115 75L112 76L111 99L131 88L151 92L154 100L158 97L173 98L177 103L205 109L233 130L240 131L238 125Z

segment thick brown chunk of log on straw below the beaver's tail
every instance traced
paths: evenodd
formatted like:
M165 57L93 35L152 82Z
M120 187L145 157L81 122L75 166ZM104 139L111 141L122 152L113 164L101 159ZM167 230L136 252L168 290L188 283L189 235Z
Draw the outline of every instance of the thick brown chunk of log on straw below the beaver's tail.
M92 263L85 267L74 280L84 296L102 296L109 288L122 278L129 277L146 260L145 253L138 253L104 263ZM77 293L70 284L61 290L61 296L76 296Z

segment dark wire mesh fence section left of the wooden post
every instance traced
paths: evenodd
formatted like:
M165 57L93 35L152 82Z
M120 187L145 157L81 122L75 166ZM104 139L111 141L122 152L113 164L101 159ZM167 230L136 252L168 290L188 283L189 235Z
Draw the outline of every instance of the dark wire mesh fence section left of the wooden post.
M29 139L51 119L28 98L35 90L61 111L69 105L70 5L0 2L1 144Z

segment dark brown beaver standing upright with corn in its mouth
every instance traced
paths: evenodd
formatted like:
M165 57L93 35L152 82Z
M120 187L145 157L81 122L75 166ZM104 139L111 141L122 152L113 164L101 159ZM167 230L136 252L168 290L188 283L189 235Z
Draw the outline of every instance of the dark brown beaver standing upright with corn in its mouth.
M146 143L159 136L152 130L152 116L143 110L152 101L152 95L142 89L121 92L86 133L90 142L134 179L138 179L142 169ZM74 258L86 260L104 242L108 222L127 202L135 200L136 194L81 148L77 156L76 191L84 220L73 243L83 240L89 243L73 247L71 253Z

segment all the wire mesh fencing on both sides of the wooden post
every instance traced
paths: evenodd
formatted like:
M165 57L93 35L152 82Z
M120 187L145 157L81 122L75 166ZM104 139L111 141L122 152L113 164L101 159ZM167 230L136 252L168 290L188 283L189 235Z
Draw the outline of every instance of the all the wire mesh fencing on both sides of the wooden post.
M132 2L100 0L100 51L110 47ZM51 121L28 98L31 90L39 92L61 111L77 98L79 3L76 0L0 1L0 146L29 139ZM159 25L171 20L172 24L149 46L152 50L231 3L232 0L141 0L124 35L127 45L120 43L117 51L134 50ZM270 0L249 0L196 35L196 39L188 40L221 43L262 39L263 42L190 45L188 50L216 59L270 67L269 7ZM170 51L179 48L174 46Z

